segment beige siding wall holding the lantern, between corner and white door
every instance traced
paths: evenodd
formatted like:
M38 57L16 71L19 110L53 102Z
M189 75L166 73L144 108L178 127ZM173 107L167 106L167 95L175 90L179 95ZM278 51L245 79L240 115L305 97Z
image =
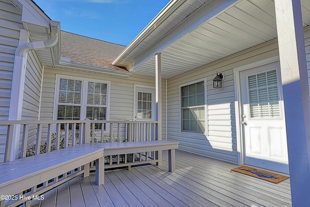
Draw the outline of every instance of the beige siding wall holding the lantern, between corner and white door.
M271 41L168 80L168 139L180 142L182 150L237 163L233 68L277 55L278 44ZM213 88L217 72L225 76L220 89ZM208 133L180 132L179 87L204 77L207 79Z

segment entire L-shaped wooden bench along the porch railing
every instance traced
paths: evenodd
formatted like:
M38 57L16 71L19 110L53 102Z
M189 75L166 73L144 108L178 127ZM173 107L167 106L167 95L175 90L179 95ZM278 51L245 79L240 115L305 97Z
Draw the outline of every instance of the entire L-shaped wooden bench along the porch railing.
M169 172L173 172L175 170L175 149L178 148L178 144L178 142L170 141L88 143L1 163L0 194L16 195L17 193L45 183L50 179L58 179L59 175L63 174L66 176L67 172L73 171L80 166L85 166L84 170L79 174L68 177L68 179L81 175L82 173L84 173L84 176L88 176L89 163L93 160L95 160L96 170L95 183L96 185L104 184L104 158L110 155L169 150ZM145 162L154 161L157 161L157 159L150 159ZM140 164L141 162L137 163ZM130 166L134 165L134 163L127 163L126 165ZM43 192L60 185L68 179L63 179L62 182L58 182L55 185L48 185ZM31 198L33 195L40 195L43 192L33 191ZM26 201L18 201L17 205L23 202ZM0 207L2 206L4 206L3 199L0 203Z

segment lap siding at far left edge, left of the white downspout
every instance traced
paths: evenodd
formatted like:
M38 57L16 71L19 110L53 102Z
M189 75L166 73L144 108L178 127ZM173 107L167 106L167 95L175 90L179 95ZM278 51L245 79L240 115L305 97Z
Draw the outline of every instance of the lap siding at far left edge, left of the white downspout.
M8 120L15 50L18 47L20 12L8 1L0 0L0 120ZM0 162L3 162L6 127L0 127Z

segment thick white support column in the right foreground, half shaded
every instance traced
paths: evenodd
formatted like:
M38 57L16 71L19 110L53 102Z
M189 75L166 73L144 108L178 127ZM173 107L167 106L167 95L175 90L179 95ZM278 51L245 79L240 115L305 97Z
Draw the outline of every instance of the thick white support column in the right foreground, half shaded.
M310 100L300 0L275 0L292 204L310 204Z

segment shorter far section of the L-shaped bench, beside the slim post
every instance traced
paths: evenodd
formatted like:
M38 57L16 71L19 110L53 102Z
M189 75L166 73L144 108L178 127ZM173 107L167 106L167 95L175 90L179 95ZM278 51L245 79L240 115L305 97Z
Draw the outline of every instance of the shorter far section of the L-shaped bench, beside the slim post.
M179 147L178 142L145 141L145 142L124 142L124 143L116 142L116 143L96 143L96 144L105 149L104 150L105 156L168 150L169 172L173 172L175 170L175 149ZM146 159L147 159L147 155L146 155ZM115 167L129 166L129 169L130 169L130 165L141 164L141 163L151 163L151 162L157 162L157 161L158 161L157 159L149 159L143 162L137 162L137 163L131 162L131 163L126 163L126 164L118 164L114 166ZM109 167L113 167L113 166L109 166ZM107 168L107 166L105 166L105 168Z

